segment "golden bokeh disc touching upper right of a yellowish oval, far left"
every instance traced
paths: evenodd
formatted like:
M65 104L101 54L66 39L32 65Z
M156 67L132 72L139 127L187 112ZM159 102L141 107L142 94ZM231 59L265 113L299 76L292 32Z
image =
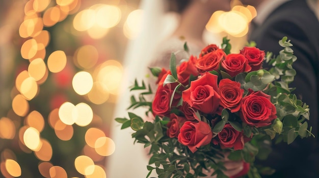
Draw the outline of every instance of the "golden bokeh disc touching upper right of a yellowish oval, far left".
M28 67L30 77L33 77L35 81L39 81L45 75L46 66L41 58L34 59Z

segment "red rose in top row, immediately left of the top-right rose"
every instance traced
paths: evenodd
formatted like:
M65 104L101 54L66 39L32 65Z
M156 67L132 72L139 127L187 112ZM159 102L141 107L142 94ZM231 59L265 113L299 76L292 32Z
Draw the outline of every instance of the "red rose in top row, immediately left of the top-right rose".
M251 70L251 66L243 54L228 54L226 59L222 61L222 67L231 77Z

